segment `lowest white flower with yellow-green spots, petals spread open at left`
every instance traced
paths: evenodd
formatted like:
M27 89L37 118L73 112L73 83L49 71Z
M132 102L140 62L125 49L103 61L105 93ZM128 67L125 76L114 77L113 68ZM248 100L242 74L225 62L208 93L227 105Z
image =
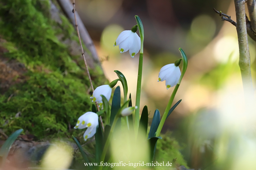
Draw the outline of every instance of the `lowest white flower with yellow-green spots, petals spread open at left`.
M97 127L99 126L99 116L94 112L86 112L80 116L77 120L77 124L74 129L84 129L87 128L84 133L84 140L93 137L96 133Z

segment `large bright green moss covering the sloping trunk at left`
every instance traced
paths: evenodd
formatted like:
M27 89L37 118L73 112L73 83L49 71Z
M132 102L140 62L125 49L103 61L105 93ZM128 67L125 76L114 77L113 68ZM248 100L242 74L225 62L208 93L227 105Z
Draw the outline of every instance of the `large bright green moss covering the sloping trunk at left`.
M68 124L73 128L92 104L81 56L71 55L58 39L64 35L62 40L78 41L75 29L63 15L61 24L51 20L49 7L47 0L0 0L0 36L7 41L0 46L9 51L4 57L27 69L23 83L0 95L0 128L7 135L19 128L38 139L67 135ZM106 79L95 67L90 74L94 86L99 86ZM17 112L21 116L15 118Z

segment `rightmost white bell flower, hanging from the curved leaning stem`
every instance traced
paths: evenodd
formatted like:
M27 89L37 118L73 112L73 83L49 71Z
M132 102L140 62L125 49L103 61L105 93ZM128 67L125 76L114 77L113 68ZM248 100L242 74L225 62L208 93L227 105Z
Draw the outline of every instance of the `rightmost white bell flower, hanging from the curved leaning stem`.
M170 88L172 86L175 86L181 76L181 71L179 69L179 66L175 66L175 64L167 64L164 67L160 69L159 75L158 75L158 82L165 80L166 88Z

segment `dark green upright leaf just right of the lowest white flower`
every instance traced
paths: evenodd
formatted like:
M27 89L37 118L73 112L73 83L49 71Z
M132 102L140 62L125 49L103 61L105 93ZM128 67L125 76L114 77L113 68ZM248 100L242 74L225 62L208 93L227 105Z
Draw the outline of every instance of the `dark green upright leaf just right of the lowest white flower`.
M101 124L101 122L99 121L99 124ZM104 143L103 143L103 132L101 129L101 126L98 126L97 131L95 133L95 161L98 163L100 161L101 158L101 153L104 147Z

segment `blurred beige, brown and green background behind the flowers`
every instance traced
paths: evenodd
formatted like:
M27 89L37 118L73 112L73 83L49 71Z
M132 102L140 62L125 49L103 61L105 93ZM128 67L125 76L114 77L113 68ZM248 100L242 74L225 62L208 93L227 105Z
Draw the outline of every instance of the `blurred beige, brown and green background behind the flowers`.
M189 167L211 169L218 163L224 169L231 164L234 166L231 169L241 169L249 165L250 159L241 158L243 154L237 149L239 142L245 146L254 143L254 138L252 142L251 138L241 136L245 134L241 129L251 134L255 122L251 113L245 117L242 114L236 28L221 21L213 10L221 10L236 20L234 1L76 0L76 7L94 41L106 77L109 81L115 80L114 70L121 71L127 79L133 103L139 54L134 58L129 52L120 54L113 44L122 31L136 24L134 16L140 17L145 35L140 108L147 105L150 118L156 108L163 114L173 90L166 90L165 82L157 82L159 70L181 57L178 48L185 51L188 69L174 100L182 99L182 102L166 120L162 133L173 132ZM255 79L255 41L248 39ZM244 138L246 140L242 140ZM233 160L245 162L234 164Z

